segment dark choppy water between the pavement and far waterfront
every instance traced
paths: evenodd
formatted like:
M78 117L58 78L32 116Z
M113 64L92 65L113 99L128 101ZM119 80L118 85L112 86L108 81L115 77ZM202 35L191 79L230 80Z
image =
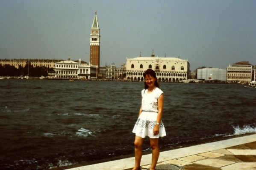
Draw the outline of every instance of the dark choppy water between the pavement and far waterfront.
M0 169L47 169L134 152L142 82L0 80ZM256 133L256 89L162 83L161 149ZM144 151L150 150L145 141Z

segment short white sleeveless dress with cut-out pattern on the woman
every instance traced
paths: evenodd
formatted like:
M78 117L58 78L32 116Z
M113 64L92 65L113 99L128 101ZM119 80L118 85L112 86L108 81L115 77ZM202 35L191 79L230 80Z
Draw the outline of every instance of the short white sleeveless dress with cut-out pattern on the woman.
M161 94L163 94L162 90L157 87L150 94L147 93L147 89L141 91L142 112L135 123L132 133L135 133L135 135L140 136L141 138L145 138L146 136L150 138L166 136L165 127L162 121L159 123L159 134L154 135L153 133L158 114L157 100Z

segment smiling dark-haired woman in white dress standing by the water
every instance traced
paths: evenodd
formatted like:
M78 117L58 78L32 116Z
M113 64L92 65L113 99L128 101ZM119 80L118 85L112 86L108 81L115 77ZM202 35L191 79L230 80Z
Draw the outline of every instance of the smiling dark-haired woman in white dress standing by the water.
M164 94L159 89L156 73L147 69L143 73L145 89L141 91L142 102L138 120L132 130L135 133L135 167L132 170L140 170L142 144L144 138L150 138L152 148L152 163L150 170L155 170L159 157L158 139L166 136L164 124L161 121L164 103Z

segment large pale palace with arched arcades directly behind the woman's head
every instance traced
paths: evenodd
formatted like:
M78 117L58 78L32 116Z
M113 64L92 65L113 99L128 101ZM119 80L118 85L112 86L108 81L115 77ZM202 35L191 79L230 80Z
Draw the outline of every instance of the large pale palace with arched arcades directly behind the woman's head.
M170 57L151 57L127 58L126 64L127 80L144 81L143 72L153 69L159 81L179 82L188 79L190 65L187 60Z

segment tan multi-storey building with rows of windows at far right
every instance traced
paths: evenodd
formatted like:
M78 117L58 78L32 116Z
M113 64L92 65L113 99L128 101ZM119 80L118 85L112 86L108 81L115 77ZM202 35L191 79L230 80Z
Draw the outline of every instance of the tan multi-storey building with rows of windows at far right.
M241 61L227 66L227 81L249 83L252 80L252 65Z

